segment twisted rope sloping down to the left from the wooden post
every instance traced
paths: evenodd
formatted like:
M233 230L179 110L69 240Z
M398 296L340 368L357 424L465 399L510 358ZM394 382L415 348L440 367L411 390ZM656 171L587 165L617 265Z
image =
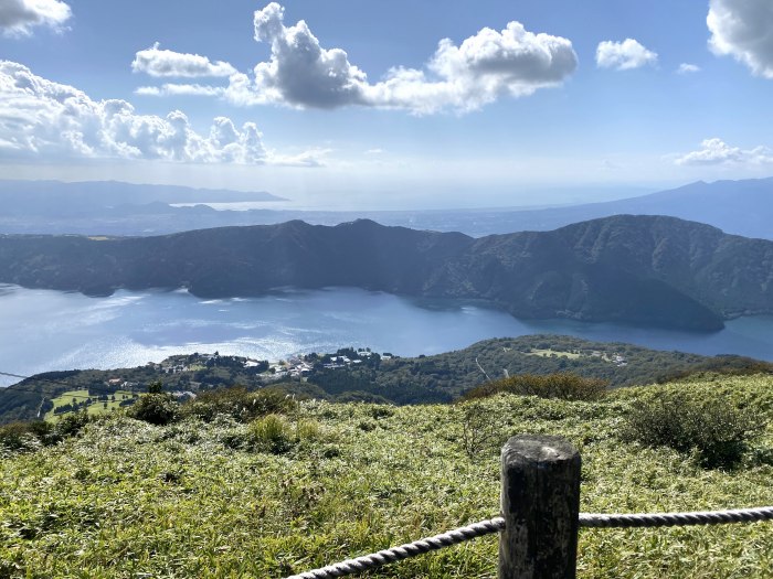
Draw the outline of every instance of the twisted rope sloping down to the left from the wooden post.
M315 569L314 571L294 575L287 579L330 579L332 577L343 577L368 569L373 569L374 567L379 567L388 562L401 561L410 557L423 555L424 553L442 549L443 547L451 547L452 545L464 543L465 540L474 539L476 537L483 537L484 535L499 533L504 528L505 519L502 517L496 517L490 521L481 521L480 523L474 523L472 525L467 525L466 527L455 528L454 530L442 533L441 535L435 535L434 537L406 543L400 547L392 547L391 549L380 550L379 553L374 553L372 555L364 555L362 557L357 557L356 559L347 559L346 561L337 562L335 565L328 565L327 567Z

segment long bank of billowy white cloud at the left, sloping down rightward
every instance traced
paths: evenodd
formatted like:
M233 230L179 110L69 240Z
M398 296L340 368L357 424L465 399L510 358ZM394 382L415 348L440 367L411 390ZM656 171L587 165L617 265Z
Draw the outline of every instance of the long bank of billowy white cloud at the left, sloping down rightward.
M126 100L92 100L72 86L0 61L0 152L3 157L160 159L198 163L264 163L269 156L253 122L214 119L195 132L174 110L139 115Z

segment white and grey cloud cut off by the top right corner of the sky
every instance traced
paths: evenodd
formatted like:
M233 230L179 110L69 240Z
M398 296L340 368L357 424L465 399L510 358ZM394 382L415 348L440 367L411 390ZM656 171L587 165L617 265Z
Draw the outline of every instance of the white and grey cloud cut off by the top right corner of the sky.
M773 78L773 2L710 0L706 23L716 54L732 55L764 78Z

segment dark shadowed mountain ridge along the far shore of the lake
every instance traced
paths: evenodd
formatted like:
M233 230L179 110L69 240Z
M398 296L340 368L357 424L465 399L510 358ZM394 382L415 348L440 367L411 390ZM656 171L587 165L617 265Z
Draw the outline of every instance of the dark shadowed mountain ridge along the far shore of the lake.
M552 232L473 238L357 221L294 221L158 237L0 236L0 282L201 297L351 286L479 299L523 319L712 331L773 313L773 242L674 217L617 215Z

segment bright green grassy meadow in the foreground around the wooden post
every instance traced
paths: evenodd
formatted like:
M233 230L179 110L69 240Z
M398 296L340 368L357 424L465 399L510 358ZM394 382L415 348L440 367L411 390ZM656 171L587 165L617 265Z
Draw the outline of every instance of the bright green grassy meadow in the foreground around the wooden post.
M669 392L769 421L733 471L624 442L636 405ZM595 403L499 395L462 405L301 403L242 423L124 416L0 462L0 577L279 578L498 513L500 444L540 432L583 459L583 512L773 505L773 377L614 390ZM766 578L773 524L584 529L583 578ZM494 578L488 537L368 577Z

